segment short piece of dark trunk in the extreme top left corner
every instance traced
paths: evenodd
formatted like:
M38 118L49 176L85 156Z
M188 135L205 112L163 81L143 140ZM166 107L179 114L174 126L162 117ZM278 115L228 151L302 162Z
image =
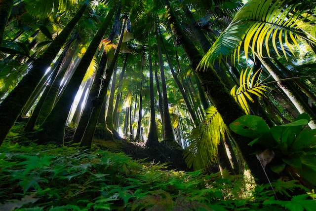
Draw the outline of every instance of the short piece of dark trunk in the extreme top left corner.
M0 44L2 43L4 29L13 8L13 0L0 0Z

